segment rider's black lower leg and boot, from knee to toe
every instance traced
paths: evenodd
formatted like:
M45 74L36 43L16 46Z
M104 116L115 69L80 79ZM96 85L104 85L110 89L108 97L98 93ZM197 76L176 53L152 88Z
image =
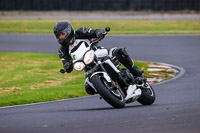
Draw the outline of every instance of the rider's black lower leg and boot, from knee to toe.
M139 69L134 65L134 62L129 57L125 48L119 48L113 50L113 55L136 77L142 76L144 70Z

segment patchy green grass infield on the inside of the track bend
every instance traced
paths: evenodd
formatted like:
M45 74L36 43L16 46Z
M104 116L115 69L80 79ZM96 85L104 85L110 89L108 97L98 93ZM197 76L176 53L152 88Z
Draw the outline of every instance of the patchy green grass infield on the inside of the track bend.
M61 74L57 55L0 53L0 106L87 96L84 72ZM144 62L136 65L147 68Z

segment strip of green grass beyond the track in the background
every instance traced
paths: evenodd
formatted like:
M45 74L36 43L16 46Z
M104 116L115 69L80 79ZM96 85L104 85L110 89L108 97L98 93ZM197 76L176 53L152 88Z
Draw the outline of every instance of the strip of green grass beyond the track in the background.
M0 20L0 33L53 33L58 20ZM71 20L74 29L111 27L110 34L200 34L200 21Z

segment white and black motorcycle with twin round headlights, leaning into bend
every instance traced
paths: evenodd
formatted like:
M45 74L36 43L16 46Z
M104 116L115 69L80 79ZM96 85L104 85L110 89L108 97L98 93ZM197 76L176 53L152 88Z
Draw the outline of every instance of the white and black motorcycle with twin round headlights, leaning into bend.
M106 35L110 27L105 31ZM76 39L77 45L70 50L74 70L86 72L84 86L87 93L99 94L115 108L123 108L135 101L142 105L153 104L155 92L146 78L136 77L126 68L121 69L117 58L104 56L102 51L99 54L96 44L102 39ZM65 73L65 69L60 69L60 72Z

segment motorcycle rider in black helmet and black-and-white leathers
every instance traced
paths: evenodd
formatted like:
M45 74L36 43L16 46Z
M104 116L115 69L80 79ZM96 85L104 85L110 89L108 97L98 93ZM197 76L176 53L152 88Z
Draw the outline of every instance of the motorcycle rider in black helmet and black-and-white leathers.
M73 70L72 58L69 55L71 49L69 47L75 45L76 39L99 38L104 37L106 33L103 29L93 30L87 27L81 27L74 32L72 25L68 21L59 21L55 24L53 31L55 38L61 45L58 50L58 55L67 73ZM97 49L103 49L102 52L106 50L107 55L116 57L133 75L142 76L144 71L134 65L125 48L111 48L108 50L103 47L98 47Z

